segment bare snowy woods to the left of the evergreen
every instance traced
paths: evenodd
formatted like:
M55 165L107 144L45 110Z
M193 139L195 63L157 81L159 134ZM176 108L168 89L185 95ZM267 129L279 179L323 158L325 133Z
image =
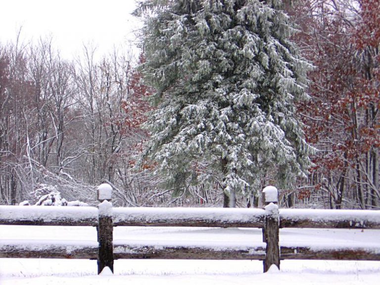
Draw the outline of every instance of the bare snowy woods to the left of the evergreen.
M135 189L149 185L130 172L146 92L128 52L95 61L84 47L66 60L49 40L1 45L0 202L38 201L50 186L91 201L108 181L123 189L120 204L137 203Z

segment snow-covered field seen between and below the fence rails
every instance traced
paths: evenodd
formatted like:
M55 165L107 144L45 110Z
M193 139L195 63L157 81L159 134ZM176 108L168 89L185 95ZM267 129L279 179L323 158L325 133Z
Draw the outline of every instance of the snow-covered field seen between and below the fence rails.
M249 243L260 229L116 227L114 240ZM91 227L0 226L1 240L96 241ZM282 229L281 243L379 245L380 230ZM262 273L261 261L115 260L114 275L97 276L95 260L0 259L0 285L363 285L378 284L380 261L284 260Z

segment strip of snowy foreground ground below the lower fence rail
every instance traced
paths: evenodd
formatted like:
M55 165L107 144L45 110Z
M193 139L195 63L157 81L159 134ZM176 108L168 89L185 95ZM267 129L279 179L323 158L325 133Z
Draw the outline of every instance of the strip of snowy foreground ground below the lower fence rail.
M115 275L96 261L1 259L1 285L376 285L379 262L284 261L262 273L259 261L116 260Z

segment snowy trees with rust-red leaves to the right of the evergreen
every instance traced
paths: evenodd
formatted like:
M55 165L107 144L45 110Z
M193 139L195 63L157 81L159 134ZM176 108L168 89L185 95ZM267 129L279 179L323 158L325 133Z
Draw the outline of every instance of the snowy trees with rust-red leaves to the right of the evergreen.
M319 151L301 191L328 208L379 208L380 3L293 1L295 41L316 69L299 106Z

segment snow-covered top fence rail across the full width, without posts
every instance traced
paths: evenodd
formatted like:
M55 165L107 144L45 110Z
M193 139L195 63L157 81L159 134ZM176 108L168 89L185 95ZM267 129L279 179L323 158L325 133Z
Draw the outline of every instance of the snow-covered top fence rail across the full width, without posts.
M113 225L263 228L263 209L113 208ZM96 207L0 206L0 225L97 226ZM279 209L280 228L380 229L380 211Z

